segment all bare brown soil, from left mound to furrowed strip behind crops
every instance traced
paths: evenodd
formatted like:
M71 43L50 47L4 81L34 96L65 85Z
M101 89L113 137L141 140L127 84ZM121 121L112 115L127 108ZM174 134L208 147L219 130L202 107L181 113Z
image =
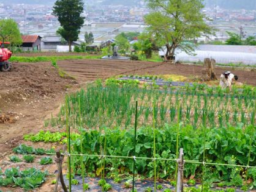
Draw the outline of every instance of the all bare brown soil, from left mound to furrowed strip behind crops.
M40 54L33 54L36 55ZM120 60L64 60L57 64L75 80L62 79L50 62L13 63L12 71L0 73L0 159L6 160L12 148L24 143L24 134L44 129L43 121L59 112L65 94L78 90L87 82L119 74L180 74L195 77L200 76L201 71L201 66L197 65ZM256 85L255 71L217 68L217 76L225 70L237 74L239 82ZM58 128L51 130L57 131ZM38 147L42 143L33 145ZM52 165L50 169L54 170L55 166ZM49 182L43 185L40 191L49 190L49 185Z

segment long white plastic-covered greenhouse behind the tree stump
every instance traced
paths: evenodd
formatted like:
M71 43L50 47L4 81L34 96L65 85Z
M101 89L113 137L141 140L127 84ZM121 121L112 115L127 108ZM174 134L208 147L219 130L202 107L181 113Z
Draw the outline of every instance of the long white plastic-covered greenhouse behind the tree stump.
M176 51L176 59L181 62L203 62L205 58L213 58L216 63L243 63L245 65L256 64L256 46L211 46L202 45L194 52L196 55L186 54L184 51ZM159 51L159 55L163 55Z

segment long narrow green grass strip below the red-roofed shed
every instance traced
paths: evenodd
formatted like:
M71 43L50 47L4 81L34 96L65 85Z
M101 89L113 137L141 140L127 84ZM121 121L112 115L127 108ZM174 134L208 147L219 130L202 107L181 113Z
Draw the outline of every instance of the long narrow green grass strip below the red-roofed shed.
M13 56L10 58L10 62L27 62L27 63L36 63L36 62L51 62L53 60L69 60L69 59L100 59L101 55L69 55L69 56L38 56L38 57L20 57Z

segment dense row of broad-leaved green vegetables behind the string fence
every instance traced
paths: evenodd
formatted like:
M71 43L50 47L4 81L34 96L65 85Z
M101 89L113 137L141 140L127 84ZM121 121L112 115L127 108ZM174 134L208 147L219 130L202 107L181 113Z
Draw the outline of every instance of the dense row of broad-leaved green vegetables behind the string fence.
M176 157L176 136L179 132L179 148L184 149L185 160L203 161L203 146L205 144L205 162L223 163L230 165L247 165L250 151L250 166L256 166L256 132L254 126L227 127L219 129L197 129L192 126L181 127L165 126L162 129L152 129L152 127L141 127L137 133L136 156L153 157L153 132L156 135L156 157L172 158ZM81 132L81 137L72 142L72 152L81 153L81 143L83 152L86 154L102 154L102 147L105 145L105 155L132 156L134 154L134 130L102 129ZM204 138L206 135L206 138ZM104 144L105 143L105 144ZM252 145L250 145L252 144ZM102 168L105 162L105 173L132 172L133 159L127 158L98 158L83 157L86 171L94 172ZM81 172L80 157L73 157L73 167L77 172ZM173 178L175 175L175 163L168 160L157 160L157 177L162 179ZM111 171L111 172L110 172ZM225 182L225 185L243 185L246 172L253 180L251 185L256 187L256 169L234 168L233 166L206 166L205 180L208 183ZM198 164L186 163L184 176L200 179L202 166ZM154 176L154 164L152 160L137 159L136 173L146 177Z

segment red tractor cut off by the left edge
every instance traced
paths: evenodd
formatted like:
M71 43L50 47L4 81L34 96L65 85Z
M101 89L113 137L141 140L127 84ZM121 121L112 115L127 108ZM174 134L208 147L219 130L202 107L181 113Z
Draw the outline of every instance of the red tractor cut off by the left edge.
M12 52L4 48L4 44L10 44L9 42L0 42L0 71L10 71L12 68L12 63L9 62L10 57L12 57Z

